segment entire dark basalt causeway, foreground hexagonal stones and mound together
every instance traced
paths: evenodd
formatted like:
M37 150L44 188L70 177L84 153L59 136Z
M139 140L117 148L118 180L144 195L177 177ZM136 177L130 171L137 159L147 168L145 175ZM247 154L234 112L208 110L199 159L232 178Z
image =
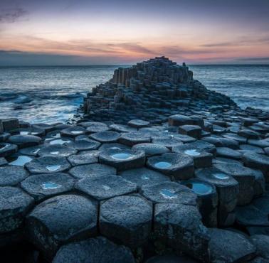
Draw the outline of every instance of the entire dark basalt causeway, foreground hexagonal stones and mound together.
M76 124L0 120L1 262L269 262L269 113L167 58Z

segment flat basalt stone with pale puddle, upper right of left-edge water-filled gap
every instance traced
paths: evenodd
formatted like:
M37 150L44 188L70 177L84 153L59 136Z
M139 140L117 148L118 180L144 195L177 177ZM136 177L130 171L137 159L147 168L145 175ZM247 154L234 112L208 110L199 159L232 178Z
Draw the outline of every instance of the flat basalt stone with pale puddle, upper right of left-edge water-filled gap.
M58 156L66 157L72 154L76 154L77 150L70 148L68 146L56 144L43 146L42 149L38 151L38 156Z

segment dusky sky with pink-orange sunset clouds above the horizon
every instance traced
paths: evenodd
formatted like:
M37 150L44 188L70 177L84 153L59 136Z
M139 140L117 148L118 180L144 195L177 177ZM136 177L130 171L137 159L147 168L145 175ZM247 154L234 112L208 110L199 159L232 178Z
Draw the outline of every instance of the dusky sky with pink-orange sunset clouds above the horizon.
M268 64L269 0L0 0L0 65Z

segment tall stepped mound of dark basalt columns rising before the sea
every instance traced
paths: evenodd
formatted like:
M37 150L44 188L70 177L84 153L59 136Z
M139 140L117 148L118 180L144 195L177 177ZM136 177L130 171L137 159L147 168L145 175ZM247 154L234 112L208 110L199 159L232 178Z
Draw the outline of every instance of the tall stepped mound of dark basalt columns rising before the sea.
M83 103L85 117L120 124L136 118L164 122L167 114L184 107L216 111L236 108L236 103L194 80L185 63L177 65L165 57L116 69L112 79L94 87Z

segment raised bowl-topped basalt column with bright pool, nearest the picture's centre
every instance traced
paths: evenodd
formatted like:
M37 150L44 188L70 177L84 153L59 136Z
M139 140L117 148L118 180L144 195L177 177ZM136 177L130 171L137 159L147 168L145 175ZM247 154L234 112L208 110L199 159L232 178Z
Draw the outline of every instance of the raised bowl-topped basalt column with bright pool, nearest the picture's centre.
M117 168L118 171L144 166L144 151L132 151L122 149L109 149L101 151L99 155L100 163L105 163Z

